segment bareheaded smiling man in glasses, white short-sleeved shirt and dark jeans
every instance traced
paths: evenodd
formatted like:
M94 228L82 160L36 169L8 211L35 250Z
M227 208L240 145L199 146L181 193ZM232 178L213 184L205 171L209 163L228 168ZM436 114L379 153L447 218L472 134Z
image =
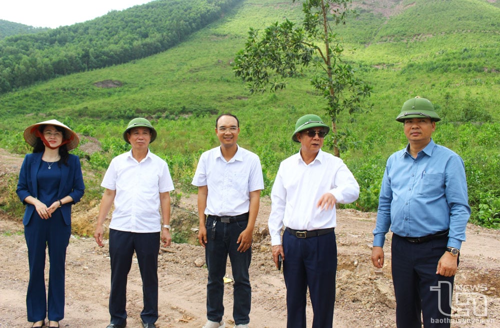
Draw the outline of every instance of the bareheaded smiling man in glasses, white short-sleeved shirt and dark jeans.
M235 328L247 328L251 303L248 268L260 190L264 188L258 156L236 143L239 121L232 114L215 120L220 146L201 154L192 184L198 187L199 243L205 248L208 283L203 328L223 328L223 278L231 261Z

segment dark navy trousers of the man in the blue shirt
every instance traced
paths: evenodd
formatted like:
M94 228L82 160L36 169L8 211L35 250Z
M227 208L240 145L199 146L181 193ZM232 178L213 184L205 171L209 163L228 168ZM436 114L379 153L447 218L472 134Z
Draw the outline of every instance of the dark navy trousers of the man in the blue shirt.
M447 238L413 244L392 235L392 281L398 328L449 328L453 277L436 275Z

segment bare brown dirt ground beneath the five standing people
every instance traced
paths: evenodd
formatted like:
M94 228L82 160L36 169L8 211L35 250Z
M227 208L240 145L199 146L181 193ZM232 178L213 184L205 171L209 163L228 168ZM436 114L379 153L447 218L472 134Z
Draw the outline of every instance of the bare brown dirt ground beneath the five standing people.
M22 157L0 150L0 178L18 171ZM89 226L97 216L95 207L73 207L73 226ZM262 197L252 246L250 281L252 309L250 328L286 326L285 286L282 273L274 268L266 221L270 211L268 197ZM182 197L173 209L172 225L187 230L194 240L196 224L195 195ZM369 259L371 231L375 213L337 210L335 229L338 245L334 327L395 327L395 301L390 279L390 234L384 247L386 260L376 271ZM175 221L177 220L177 223ZM179 224L180 223L180 224ZM0 328L30 327L26 322L25 295L28 282L27 249L23 227L0 212ZM453 328L500 327L500 235L497 230L467 227L467 241L461 249L455 279ZM202 247L172 244L159 255L158 328L200 328L206 321L206 267ZM72 236L66 257L66 307L60 327L101 327L109 323L109 256L107 245L99 248L93 238ZM230 264L227 277L231 278ZM48 260L45 270L48 279ZM232 321L232 283L225 284L224 321ZM140 328L142 292L136 261L128 275L127 327ZM307 319L311 322L310 304ZM308 325L310 327L310 324Z

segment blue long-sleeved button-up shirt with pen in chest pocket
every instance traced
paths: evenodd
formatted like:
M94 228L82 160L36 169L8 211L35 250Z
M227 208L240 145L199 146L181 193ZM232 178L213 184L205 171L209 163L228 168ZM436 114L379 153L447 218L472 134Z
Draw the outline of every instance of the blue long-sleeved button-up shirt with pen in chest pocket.
M448 247L460 249L469 215L460 156L433 140L416 158L406 147L387 160L373 246L383 246L390 226L401 237L423 237L449 229Z

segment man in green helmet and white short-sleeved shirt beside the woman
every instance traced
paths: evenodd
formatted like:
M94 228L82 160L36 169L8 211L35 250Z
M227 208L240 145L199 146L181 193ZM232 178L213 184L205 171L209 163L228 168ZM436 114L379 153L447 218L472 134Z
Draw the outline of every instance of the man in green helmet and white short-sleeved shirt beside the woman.
M163 245L170 245L170 191L173 182L166 162L149 151L156 130L148 120L140 117L131 120L123 138L132 149L113 158L102 179L101 187L106 189L94 233L97 244L104 246L102 224L114 202L109 224L111 320L107 328L126 326L126 282L134 251L142 279L142 326L154 328L158 319L160 231Z

